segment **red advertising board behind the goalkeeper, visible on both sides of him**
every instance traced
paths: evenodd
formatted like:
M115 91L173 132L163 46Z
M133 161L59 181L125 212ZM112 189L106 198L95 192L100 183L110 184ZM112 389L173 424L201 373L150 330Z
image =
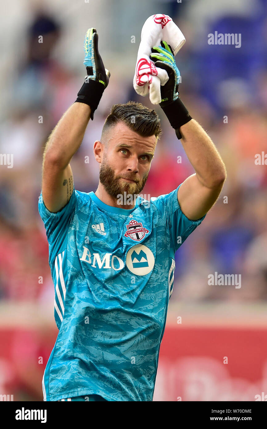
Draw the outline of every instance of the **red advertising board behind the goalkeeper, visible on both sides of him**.
M42 401L56 336L57 329L0 330L1 394ZM166 326L153 401L255 400L267 401L267 329Z

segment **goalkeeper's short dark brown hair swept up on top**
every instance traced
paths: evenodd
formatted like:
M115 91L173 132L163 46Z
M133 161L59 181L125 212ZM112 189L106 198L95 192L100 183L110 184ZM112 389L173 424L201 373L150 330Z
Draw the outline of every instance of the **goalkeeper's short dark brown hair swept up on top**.
M118 122L123 122L132 131L143 137L155 135L156 139L158 139L162 134L160 119L155 110L149 109L142 103L136 103L135 101L114 104L111 107L111 112L102 128L102 136L109 127Z

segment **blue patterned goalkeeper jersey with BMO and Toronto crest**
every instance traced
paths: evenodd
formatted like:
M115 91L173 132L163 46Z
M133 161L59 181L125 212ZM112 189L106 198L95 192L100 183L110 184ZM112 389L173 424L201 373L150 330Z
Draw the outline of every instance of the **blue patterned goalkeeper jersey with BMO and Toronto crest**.
M205 217L186 218L178 188L150 202L138 196L129 210L74 189L57 213L41 192L59 329L44 401L89 394L152 401L174 253Z

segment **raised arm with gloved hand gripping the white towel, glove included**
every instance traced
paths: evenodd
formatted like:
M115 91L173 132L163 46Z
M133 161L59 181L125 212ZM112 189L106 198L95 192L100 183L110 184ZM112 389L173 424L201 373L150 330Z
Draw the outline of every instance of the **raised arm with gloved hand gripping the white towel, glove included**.
M161 87L159 106L181 139L186 155L195 169L179 187L177 198L184 215L192 221L202 218L218 198L226 178L225 165L210 137L191 118L178 93L180 72L171 46L165 41L153 46L150 59L165 69L169 79Z

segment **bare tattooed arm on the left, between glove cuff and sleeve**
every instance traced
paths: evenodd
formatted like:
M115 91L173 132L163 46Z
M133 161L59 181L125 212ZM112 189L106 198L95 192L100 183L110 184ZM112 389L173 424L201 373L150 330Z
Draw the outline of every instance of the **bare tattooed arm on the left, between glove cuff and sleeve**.
M73 103L52 131L45 147L42 165L42 197L45 207L56 213L73 191L70 160L81 145L90 119L90 106Z

